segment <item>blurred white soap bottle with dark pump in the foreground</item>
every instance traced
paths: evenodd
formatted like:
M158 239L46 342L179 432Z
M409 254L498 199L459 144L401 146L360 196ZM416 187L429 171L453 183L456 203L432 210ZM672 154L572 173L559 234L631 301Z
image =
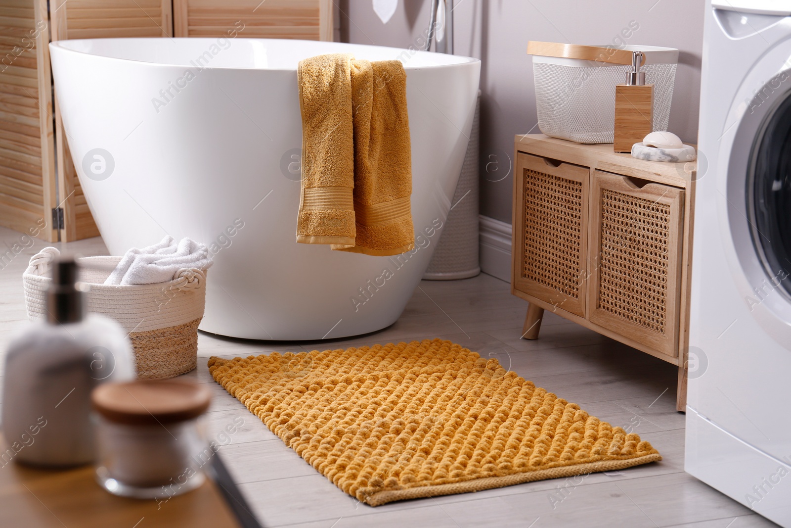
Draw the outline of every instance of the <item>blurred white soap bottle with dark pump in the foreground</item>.
M47 467L93 462L91 390L134 378L126 332L86 314L87 285L78 275L74 259L55 260L44 321L28 326L6 353L2 431L9 448L2 465L9 458Z

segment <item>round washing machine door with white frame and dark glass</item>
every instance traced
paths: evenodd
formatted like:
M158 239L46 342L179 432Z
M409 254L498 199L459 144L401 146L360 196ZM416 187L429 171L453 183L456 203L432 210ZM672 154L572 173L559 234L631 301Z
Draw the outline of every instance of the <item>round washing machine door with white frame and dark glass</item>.
M736 285L761 328L791 350L791 52L783 65L734 103L732 115L740 117L726 165L725 209L740 268L733 270ZM759 63L747 88L760 71Z

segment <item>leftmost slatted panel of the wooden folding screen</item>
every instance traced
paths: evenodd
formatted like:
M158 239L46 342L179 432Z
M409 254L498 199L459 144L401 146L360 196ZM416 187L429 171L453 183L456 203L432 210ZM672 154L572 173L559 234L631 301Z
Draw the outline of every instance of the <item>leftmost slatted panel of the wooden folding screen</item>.
M0 0L0 225L56 241L48 43L47 0Z

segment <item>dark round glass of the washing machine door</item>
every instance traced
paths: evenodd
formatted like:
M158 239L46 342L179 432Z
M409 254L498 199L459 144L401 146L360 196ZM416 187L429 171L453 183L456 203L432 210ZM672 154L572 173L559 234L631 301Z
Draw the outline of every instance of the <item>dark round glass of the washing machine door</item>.
M763 122L747 177L751 231L766 274L791 298L791 96Z

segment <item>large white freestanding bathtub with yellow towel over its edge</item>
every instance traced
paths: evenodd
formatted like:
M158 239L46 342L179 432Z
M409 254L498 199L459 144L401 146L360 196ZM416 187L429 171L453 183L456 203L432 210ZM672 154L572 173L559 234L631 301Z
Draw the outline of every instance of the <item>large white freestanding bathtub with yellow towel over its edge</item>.
M165 234L210 246L200 328L262 340L373 332L399 317L451 207L477 59L303 40L96 39L50 44L59 108L114 255ZM296 242L297 62L324 53L407 70L415 249L377 257Z

